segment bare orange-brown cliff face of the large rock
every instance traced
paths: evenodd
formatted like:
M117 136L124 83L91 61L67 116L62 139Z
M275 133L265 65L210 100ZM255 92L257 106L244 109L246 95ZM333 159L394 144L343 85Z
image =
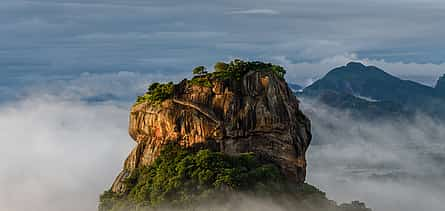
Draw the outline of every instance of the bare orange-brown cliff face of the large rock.
M241 80L211 84L184 80L160 105L143 102L131 108L129 133L137 146L113 183L113 192L125 192L125 178L135 168L150 165L173 141L234 155L254 152L276 163L288 178L304 182L310 121L284 79L250 71Z

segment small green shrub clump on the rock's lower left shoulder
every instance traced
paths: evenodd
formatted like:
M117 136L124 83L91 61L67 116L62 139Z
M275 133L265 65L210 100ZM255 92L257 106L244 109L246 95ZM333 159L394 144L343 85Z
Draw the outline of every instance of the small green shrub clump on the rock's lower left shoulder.
M147 92L143 96L138 96L136 103L150 102L152 104L159 104L173 97L173 88L173 82L165 84L153 83L148 87Z

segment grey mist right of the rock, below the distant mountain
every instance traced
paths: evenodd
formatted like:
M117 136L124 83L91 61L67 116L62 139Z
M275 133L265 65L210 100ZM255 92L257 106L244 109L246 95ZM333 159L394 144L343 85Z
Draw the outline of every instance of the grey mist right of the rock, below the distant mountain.
M331 199L377 211L445 210L445 124L414 118L367 121L303 100L314 140L308 181Z

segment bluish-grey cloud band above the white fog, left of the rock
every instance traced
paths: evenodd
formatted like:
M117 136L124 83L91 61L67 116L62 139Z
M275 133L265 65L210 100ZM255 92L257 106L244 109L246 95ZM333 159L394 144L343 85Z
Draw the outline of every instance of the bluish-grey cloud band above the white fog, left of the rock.
M190 73L162 74L119 71L114 73L83 72L72 76L23 76L19 84L0 85L0 103L22 100L34 96L52 96L60 100L133 102L145 93L152 82L178 82L190 77ZM17 87L14 87L17 86Z

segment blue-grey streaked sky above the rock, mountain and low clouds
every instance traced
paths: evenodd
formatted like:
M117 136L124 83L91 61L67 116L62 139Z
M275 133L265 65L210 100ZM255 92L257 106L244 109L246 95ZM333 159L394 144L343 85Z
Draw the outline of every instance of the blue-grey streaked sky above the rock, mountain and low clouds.
M232 58L303 85L350 60L432 85L444 25L440 0L2 0L0 90L85 72L176 79Z

